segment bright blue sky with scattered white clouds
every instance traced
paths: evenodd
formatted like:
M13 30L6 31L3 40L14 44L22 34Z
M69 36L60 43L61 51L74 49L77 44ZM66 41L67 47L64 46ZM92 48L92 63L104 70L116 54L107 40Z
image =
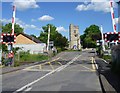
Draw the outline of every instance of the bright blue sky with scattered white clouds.
M83 34L90 25L103 27L103 32L112 32L110 4L103 2L37 2L35 0L14 0L2 2L2 18L5 25L11 22L12 5L16 6L16 23L24 28L24 33L40 35L42 26L53 24L57 30L69 39L69 25L79 26L79 33ZM114 2L115 23L120 23L118 6ZM117 27L118 28L118 27ZM118 29L117 29L118 31Z

